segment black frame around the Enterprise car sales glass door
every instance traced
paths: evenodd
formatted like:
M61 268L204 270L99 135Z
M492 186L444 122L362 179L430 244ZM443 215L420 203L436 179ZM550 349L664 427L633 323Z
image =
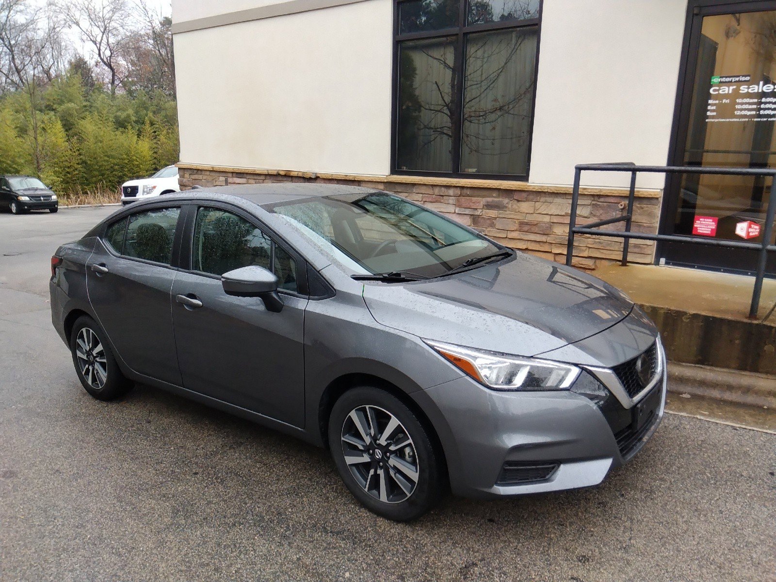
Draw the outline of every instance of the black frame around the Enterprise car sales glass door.
M679 62L677 95L676 99L674 99L674 119L671 122L671 133L668 143L667 165L682 165L681 154L684 150L684 144L687 142L687 133L690 125L689 113L692 92L695 87L695 68L698 64L698 42L701 36L703 17L734 14L736 12L763 12L766 10L776 11L776 0L757 0L756 2L745 2L743 0L688 0L687 15L684 19L681 61ZM658 227L660 234L674 234L673 225L679 203L678 192L681 178L681 174L666 174ZM669 244L671 243L657 241L655 265L659 265L663 261L665 250ZM716 272L733 272L729 268L722 267L703 268L704 270ZM740 271L736 272L740 273Z

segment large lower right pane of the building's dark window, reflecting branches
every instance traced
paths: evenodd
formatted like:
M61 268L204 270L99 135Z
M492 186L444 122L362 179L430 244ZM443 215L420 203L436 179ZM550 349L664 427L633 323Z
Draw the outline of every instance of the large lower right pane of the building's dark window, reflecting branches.
M461 171L528 173L536 36L535 29L469 36Z

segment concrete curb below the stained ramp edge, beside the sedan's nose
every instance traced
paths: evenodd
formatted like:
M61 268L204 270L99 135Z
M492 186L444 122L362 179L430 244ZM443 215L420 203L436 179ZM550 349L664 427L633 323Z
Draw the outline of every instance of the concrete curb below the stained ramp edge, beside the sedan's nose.
M776 410L776 376L668 362L668 390Z

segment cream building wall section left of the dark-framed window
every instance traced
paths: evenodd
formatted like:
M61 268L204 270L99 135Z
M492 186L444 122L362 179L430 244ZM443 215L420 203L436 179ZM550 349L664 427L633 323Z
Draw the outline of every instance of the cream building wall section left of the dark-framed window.
M214 4L175 2L175 25ZM176 33L181 161L388 173L392 18L369 0Z

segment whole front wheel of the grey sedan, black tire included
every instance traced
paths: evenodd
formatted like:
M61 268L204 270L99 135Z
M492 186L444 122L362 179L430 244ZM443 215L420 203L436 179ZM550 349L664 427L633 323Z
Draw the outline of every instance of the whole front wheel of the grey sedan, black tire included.
M379 438L374 438L369 443L358 436L356 440L366 445L365 449L361 445L355 445L353 440L343 441L343 435L349 439L352 439L352 434L362 435L361 432L353 433L352 429L357 427L351 413L362 414L362 418L369 421L365 414L370 414L370 411L376 417L373 417L369 424L375 422L385 429L391 416L400 423L392 434L388 435L390 438L386 439L387 445L379 444ZM381 428L377 430L378 436ZM431 442L429 429L392 394L372 386L359 386L348 390L331 410L328 433L331 456L345 487L348 487L353 496L369 511L393 521L411 521L434 508L442 499L445 491L442 456ZM409 445L391 449L392 444L400 445L406 442L402 440L403 435L409 437ZM369 435L369 438L372 438L372 435ZM355 454L368 457L369 460L348 465L345 460L346 449L350 456ZM410 455L409 449L412 449L413 454ZM391 452L393 458L389 459ZM382 464L378 465L378 459L382 459ZM411 479L405 478L404 471L397 470L401 469L402 462L406 463L404 466L414 468L417 475L414 485ZM356 468L352 471L351 466ZM381 487L383 480L386 483L385 490ZM370 486L371 492L368 490ZM407 486L410 488L409 494ZM380 497L386 497L388 501L381 501Z

